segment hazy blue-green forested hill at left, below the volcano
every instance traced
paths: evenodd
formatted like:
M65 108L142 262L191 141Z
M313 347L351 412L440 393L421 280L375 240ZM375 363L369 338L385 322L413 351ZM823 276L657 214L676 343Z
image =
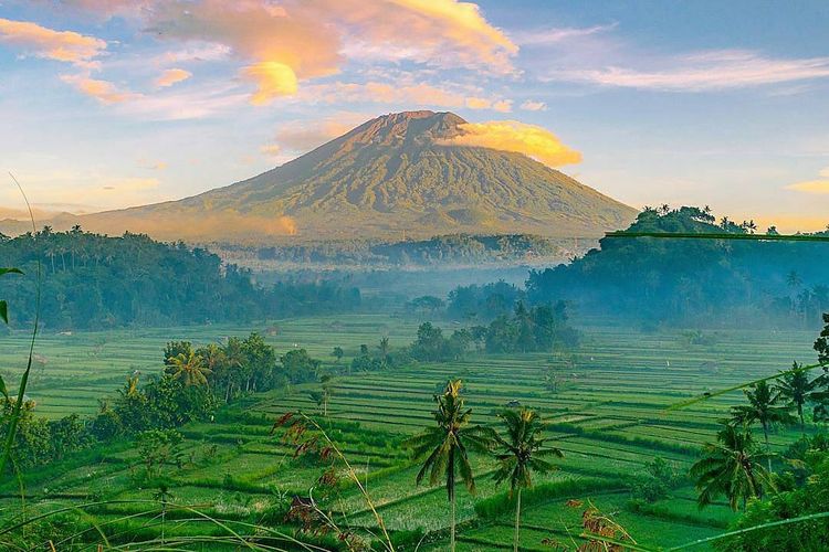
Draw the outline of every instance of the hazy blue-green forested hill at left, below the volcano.
M41 319L59 330L263 319L350 310L360 302L358 289L329 283L262 288L248 270L181 243L44 227L0 238L0 266L24 272L0 283L12 327L34 315L38 261Z

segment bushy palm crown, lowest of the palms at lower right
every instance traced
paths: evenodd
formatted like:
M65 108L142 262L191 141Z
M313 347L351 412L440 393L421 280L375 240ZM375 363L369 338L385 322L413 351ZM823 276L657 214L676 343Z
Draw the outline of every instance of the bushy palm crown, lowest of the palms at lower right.
M716 443L705 445L704 457L689 471L696 479L700 508L724 495L732 510L741 502L745 509L746 500L763 497L763 485L769 481L760 465L768 454L757 447L747 426L726 424L716 438Z

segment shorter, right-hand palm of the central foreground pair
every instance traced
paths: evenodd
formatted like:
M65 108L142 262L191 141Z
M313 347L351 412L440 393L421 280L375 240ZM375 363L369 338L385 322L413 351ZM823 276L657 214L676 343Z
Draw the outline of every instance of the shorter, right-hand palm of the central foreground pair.
M518 532L521 530L521 491L533 486L531 474L548 474L554 466L544 456L564 454L558 448L545 447L541 433L544 429L542 418L537 412L522 408L506 410L499 414L506 428L506 438L495 437L499 450L495 459L499 468L493 475L495 484L510 480L510 493L515 495L515 538L513 550L518 551Z

